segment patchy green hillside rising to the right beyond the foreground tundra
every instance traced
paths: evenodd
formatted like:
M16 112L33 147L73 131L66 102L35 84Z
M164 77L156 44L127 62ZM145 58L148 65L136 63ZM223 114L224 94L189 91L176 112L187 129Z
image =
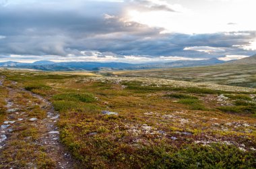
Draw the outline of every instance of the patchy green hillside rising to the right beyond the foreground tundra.
M152 70L123 70L101 72L117 76L156 77L190 82L210 82L238 87L256 88L255 56L214 66L162 68Z

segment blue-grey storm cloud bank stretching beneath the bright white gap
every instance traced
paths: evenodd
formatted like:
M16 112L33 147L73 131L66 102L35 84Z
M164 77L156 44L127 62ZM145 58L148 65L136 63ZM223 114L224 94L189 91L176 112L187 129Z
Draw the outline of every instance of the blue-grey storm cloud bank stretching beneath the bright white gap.
M124 55L147 57L187 56L212 58L225 54L253 54L233 45L246 45L255 32L229 34L160 34L162 28L148 27L123 19L123 3L97 1L2 1L0 6L0 57L75 56L81 51L99 51L98 57ZM134 5L135 1L126 1ZM150 1L140 7L172 11ZM207 54L184 48L211 46L225 52Z

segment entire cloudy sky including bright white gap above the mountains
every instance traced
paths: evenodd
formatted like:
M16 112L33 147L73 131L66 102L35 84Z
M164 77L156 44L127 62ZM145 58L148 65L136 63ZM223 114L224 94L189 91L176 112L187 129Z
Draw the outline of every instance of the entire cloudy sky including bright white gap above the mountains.
M172 62L256 54L255 0L0 0L0 62Z

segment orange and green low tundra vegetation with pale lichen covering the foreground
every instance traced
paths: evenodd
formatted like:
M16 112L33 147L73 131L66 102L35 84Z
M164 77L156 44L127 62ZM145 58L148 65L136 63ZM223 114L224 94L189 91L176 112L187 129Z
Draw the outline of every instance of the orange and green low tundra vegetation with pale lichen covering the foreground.
M256 168L256 89L24 70L1 70L0 76L3 86L15 82L12 87L53 103L61 142L84 168ZM3 121L7 90L0 88ZM30 96L21 104L25 99ZM28 116L45 117L40 107L32 109ZM24 127L13 132L36 142L38 129ZM38 168L54 168L54 159L30 142L17 137L5 148L3 168L8 162L24 167L26 156Z

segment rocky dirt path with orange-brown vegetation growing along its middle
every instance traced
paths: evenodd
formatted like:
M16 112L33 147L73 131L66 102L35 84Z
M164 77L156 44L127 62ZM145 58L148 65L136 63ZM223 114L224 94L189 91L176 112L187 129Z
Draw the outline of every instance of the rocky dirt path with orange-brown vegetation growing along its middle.
M59 142L59 113L53 105L24 89L7 90L7 121L0 124L0 168L77 168Z

